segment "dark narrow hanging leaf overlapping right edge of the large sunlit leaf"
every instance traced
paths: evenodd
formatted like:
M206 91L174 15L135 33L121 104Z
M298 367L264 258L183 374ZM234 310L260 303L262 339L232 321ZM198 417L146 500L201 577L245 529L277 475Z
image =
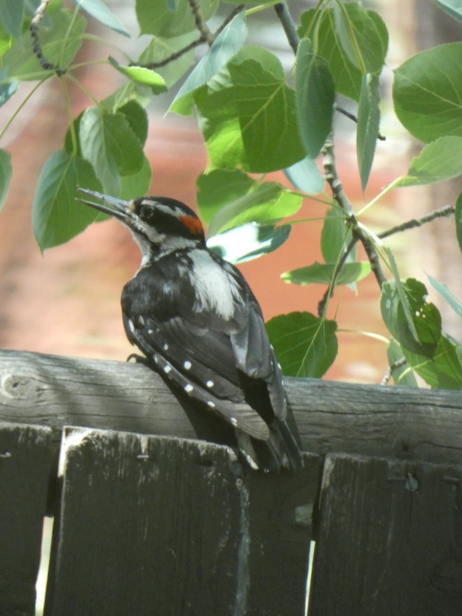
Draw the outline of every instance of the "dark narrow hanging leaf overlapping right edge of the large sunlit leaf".
M308 39L298 46L295 91L302 143L307 155L316 158L332 129L335 91L327 62L313 53Z

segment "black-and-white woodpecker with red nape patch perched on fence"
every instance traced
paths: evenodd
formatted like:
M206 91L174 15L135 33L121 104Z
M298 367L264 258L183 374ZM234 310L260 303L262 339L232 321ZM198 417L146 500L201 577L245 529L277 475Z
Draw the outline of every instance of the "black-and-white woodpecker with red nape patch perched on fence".
M140 246L121 304L145 363L229 422L253 468L300 468L261 308L239 270L207 248L196 214L168 197L123 201L79 190L102 201L81 200L126 225Z

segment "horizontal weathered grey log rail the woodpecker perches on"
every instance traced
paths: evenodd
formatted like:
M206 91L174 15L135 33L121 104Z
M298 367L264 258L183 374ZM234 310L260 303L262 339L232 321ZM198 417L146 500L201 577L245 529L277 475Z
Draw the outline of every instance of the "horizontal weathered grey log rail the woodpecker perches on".
M459 391L285 379L302 449L462 463ZM0 420L226 442L143 365L0 351Z

